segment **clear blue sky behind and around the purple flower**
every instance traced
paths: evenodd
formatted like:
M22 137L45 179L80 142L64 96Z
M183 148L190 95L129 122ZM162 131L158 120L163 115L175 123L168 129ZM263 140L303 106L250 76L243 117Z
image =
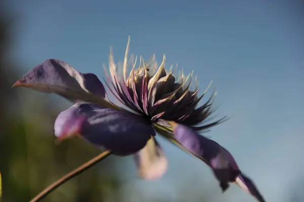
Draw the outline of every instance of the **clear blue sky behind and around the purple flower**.
M58 58L101 78L109 47L122 61L128 35L136 55L156 53L161 62L165 53L168 66L194 70L201 89L213 80L217 113L233 118L208 135L234 154L268 201L280 202L304 173L304 7L299 2L10 1L8 12L18 17L12 56L24 64L24 73ZM150 197L150 190L174 200L170 186L200 178L198 189L211 186L220 193L207 166L161 143L170 168L160 181L132 181L145 189L143 197ZM254 199L232 187L214 201Z

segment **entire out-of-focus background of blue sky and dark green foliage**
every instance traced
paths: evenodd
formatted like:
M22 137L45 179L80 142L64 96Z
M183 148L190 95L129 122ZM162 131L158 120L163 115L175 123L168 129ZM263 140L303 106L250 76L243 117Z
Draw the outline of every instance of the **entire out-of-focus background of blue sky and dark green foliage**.
M207 135L231 151L267 201L304 201L304 4L302 1L1 1L0 171L2 201L29 201L100 151L55 144L54 120L70 103L11 89L36 64L66 61L101 79L109 47L122 61L156 53L217 89L217 114L233 116ZM210 91L211 92L211 91ZM203 100L204 102L205 100ZM43 201L255 201L224 194L200 160L159 139L165 176L137 177L132 156L110 156Z

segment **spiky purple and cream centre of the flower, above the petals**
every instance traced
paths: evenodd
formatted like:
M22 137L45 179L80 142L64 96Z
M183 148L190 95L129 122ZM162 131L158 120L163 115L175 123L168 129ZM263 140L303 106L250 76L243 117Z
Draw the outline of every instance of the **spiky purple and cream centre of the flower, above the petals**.
M195 91L189 89L193 73L187 77L181 73L180 79L177 80L172 68L169 71L165 69L166 57L164 55L158 69L155 57L148 61L144 61L140 57L137 67L136 57L135 62L132 60L132 69L127 77L128 50L129 43L123 65L116 65L112 53L110 54L110 75L107 75L108 82L106 83L112 94L127 108L143 115L151 122L162 123L161 120L174 120L176 123L190 126L195 130L210 128L224 120L225 117L211 124L195 127L212 113L212 96L203 106L198 107L198 103L205 93L198 96L197 88ZM117 71L117 66L120 68L119 71ZM118 72L122 72L123 75L119 75Z

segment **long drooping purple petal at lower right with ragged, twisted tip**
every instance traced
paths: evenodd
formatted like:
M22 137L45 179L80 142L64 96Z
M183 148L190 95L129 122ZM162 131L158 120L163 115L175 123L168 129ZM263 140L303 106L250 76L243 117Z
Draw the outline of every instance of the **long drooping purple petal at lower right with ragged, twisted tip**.
M223 192L229 188L229 182L237 182L237 180L240 179L240 176L242 176L241 171L229 151L189 127L174 122L169 122L169 124L173 128L174 138L189 152L199 156L211 167ZM253 184L251 180L249 182L248 180L246 181L245 178L242 179L248 190L254 190L248 192L253 194L259 201L264 201L257 188L251 186ZM258 197L258 195L260 197Z

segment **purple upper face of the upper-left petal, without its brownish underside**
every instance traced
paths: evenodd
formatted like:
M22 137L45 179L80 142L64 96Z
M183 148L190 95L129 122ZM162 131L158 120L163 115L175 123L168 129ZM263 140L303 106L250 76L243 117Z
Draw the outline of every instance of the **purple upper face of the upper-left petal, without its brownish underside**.
M14 86L26 87L27 85L33 86L35 84L66 87L105 97L105 89L95 74L81 73L67 63L57 59L48 59L42 64L36 65L18 80Z

